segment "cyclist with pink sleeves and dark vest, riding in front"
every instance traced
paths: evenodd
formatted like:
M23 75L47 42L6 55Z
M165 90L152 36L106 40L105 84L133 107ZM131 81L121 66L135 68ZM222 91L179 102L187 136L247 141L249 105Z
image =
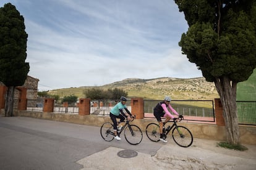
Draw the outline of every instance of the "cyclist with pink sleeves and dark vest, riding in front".
M167 140L165 140L164 137L163 137L163 125L165 123L167 123L170 119L174 118L174 116L171 115L171 113L169 112L168 108L171 111L173 111L173 113L175 115L179 116L179 113L177 113L177 111L174 110L173 107L171 107L170 102L171 102L171 97L166 96L166 97L164 97L164 101L157 103L156 107L154 108L154 116L155 116L155 118L157 119L157 121L159 123L160 140L163 141L163 142L167 142ZM161 117L166 118L164 123L162 122Z

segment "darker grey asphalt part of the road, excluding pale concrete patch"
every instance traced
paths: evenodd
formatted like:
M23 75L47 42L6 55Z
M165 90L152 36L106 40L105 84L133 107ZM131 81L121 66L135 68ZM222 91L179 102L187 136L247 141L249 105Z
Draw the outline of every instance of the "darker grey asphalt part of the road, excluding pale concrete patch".
M106 142L100 127L27 117L0 117L0 169L82 169L77 161L109 147L155 155L161 143Z

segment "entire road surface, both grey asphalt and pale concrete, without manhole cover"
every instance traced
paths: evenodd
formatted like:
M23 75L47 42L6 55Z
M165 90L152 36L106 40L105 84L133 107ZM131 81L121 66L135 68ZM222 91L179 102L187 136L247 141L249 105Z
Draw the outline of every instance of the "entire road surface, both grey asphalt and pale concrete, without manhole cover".
M168 143L151 142L145 133L139 145L106 142L100 127L26 117L0 117L0 169L256 169L256 146L244 152L221 148L218 141L194 139L182 148L168 137ZM118 153L132 150L132 158Z

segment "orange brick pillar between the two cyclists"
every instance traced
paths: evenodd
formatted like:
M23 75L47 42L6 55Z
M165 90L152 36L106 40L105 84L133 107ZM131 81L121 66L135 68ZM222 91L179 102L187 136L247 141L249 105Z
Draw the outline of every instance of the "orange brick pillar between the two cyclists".
M144 100L143 98L133 98L130 102L132 107L132 115L136 116L136 119L144 118Z

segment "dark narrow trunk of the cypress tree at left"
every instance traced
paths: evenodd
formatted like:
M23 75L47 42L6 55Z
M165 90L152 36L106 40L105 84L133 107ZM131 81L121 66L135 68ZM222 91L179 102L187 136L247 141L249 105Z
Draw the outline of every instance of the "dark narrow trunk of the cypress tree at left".
M6 103L4 105L5 116L14 116L14 89L15 86L10 86L7 89Z

